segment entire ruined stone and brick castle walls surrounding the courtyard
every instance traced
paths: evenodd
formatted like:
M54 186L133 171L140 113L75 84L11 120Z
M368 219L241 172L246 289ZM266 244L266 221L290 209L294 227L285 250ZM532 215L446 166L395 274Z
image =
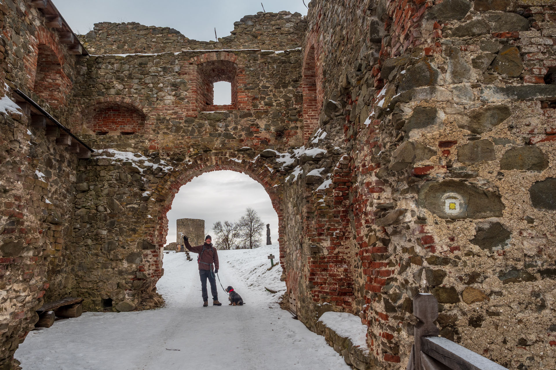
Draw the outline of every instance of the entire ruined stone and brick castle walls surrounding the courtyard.
M0 365L45 299L160 305L173 197L235 170L279 216L300 320L368 325L359 367L405 368L417 292L438 298L442 336L510 369L556 367L554 14L547 0L314 0L215 43L101 23L82 40L103 55L76 57L37 9L3 0L1 94L22 90L97 151L77 159L0 113ZM212 102L219 80L231 105Z

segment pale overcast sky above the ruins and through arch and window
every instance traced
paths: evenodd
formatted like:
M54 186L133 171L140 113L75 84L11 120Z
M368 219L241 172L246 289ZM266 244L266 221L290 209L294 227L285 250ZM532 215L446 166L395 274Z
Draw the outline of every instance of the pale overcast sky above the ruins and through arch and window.
M262 11L261 0L52 0L73 32L85 34L99 22L138 22L145 26L171 27L195 40L229 36L234 22ZM309 4L308 0L305 0ZM267 12L307 14L302 0L262 0ZM221 85L225 85L221 84ZM229 85L229 84L228 84ZM230 87L216 87L215 104L229 104ZM255 180L234 171L206 173L182 186L168 211L166 242L175 241L176 219L205 220L205 233L214 236L216 221L237 221L246 207L270 224L272 242L278 237L278 217L270 197ZM263 232L266 241L266 231Z

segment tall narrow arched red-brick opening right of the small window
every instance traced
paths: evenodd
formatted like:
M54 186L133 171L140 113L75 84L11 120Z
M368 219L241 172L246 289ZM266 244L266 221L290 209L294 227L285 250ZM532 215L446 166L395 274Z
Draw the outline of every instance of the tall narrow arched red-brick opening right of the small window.
M302 74L304 143L307 143L319 124L320 107L317 99L316 77L315 47L311 47L307 51Z

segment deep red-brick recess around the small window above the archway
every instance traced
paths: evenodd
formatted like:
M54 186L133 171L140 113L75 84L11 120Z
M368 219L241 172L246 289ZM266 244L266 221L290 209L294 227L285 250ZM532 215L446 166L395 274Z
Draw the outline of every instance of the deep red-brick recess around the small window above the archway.
M200 111L237 109L237 64L229 60L210 60L198 65L197 107ZM214 84L230 83L230 104L215 104Z

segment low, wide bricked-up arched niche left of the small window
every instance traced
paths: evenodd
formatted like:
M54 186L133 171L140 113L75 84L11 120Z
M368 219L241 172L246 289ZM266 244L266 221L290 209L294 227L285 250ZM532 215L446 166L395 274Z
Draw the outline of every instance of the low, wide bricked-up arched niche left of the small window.
M143 131L145 114L131 104L100 103L88 126L97 135L133 135Z

